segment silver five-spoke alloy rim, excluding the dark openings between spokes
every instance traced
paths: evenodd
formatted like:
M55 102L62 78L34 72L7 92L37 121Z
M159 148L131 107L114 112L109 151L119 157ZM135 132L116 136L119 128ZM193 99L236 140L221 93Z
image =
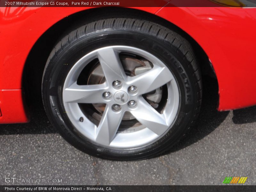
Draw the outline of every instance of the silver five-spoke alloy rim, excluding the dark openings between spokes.
M140 75L127 76L119 58L121 52L139 55L150 61L153 68ZM97 58L106 81L78 85L81 71ZM121 85L116 86L119 83ZM167 86L168 96L164 109L159 113L142 95L163 85ZM130 91L133 90L131 86L136 87L135 92ZM159 140L171 129L180 104L179 88L169 68L151 53L130 46L108 46L86 54L69 71L62 96L67 116L82 136L97 145L116 149L139 148ZM79 103L106 104L98 126L84 115ZM125 112L131 113L145 128L117 132Z

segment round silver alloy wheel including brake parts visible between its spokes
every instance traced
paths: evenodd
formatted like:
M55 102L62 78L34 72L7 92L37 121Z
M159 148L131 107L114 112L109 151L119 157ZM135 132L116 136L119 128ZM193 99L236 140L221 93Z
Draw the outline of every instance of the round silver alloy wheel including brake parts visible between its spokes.
M131 58L133 63L125 65ZM81 72L91 65L91 73L81 84ZM159 140L172 128L180 93L161 60L120 45L94 50L78 60L65 79L62 100L81 136L100 146L131 149Z

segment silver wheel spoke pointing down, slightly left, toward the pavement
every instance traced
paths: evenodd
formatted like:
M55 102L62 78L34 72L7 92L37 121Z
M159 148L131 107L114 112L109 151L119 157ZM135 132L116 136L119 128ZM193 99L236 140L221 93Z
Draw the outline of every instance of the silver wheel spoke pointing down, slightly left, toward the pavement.
M116 136L117 129L123 118L123 111L115 113L107 106L96 129L95 141L102 145L109 145Z

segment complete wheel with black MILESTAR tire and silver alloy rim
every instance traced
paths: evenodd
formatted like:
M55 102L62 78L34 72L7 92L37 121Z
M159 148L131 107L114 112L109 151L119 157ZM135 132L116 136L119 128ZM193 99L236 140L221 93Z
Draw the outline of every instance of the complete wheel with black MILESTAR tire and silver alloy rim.
M164 70L158 73L157 68ZM103 71L101 80L98 70ZM138 83L135 91L133 80ZM97 82L95 92L90 81ZM182 36L147 20L111 18L61 39L47 60L42 96L51 123L76 148L108 159L145 159L171 148L194 124L202 81L196 57ZM97 103L102 98L107 104Z

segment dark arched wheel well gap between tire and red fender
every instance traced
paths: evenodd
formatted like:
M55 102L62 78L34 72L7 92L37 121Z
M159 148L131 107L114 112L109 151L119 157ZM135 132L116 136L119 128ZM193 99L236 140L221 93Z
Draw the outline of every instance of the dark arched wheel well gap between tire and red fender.
M116 17L130 17L149 20L179 33L192 45L203 74L214 74L209 62L209 58L201 46L196 43L196 41L185 31L172 24L171 22L164 20L163 18L160 18L154 14L136 9L120 7L93 8L77 12L60 20L47 31L45 31L44 34L36 41L28 54L22 77L22 85L26 93L26 103L32 108L42 109L43 104L41 96L41 82L44 67L50 52L52 51L53 47L60 41L60 39L71 32L71 30L74 28L79 28L80 26L95 20Z

